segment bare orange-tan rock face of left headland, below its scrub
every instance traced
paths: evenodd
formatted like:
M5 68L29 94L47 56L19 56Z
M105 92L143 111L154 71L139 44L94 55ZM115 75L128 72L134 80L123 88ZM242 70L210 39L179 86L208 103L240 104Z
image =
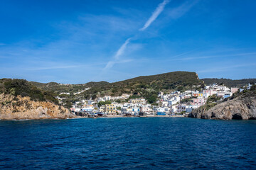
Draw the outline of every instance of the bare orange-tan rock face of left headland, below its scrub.
M67 108L49 101L31 101L29 97L0 94L0 119L51 119L75 118Z

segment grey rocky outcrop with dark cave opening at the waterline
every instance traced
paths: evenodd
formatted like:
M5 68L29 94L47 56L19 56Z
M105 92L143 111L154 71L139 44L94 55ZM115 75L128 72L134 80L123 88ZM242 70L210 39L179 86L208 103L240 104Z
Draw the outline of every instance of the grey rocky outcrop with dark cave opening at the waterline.
M220 103L206 111L198 108L188 115L190 118L203 119L256 119L256 95L245 94L230 101Z

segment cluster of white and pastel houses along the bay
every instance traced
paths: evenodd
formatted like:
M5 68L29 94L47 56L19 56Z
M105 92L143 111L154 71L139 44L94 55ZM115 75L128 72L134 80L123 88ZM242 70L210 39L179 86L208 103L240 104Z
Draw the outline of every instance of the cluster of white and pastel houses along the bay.
M245 88L250 89L250 86L248 84ZM77 101L70 110L80 116L186 116L193 109L205 105L208 98L214 98L215 102L223 101L244 89L211 84L200 90L172 91L170 94L159 92L158 100L153 104L143 97L132 98L129 94L104 96Z

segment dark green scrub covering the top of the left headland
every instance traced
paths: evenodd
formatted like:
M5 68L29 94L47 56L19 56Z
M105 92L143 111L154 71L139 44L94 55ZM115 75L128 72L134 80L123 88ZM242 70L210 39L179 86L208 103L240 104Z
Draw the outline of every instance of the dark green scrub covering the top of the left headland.
M53 92L38 89L24 79L0 79L0 93L22 97L28 96L33 101L51 101L58 104Z

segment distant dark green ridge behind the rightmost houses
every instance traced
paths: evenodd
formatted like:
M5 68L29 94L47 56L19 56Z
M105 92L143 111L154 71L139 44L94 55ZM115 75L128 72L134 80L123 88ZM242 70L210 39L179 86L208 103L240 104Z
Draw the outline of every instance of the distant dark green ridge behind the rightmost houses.
M249 83L256 82L256 79L238 79L238 80L232 80L232 79L202 79L206 85L210 84L224 84L225 86L231 87L242 87Z

